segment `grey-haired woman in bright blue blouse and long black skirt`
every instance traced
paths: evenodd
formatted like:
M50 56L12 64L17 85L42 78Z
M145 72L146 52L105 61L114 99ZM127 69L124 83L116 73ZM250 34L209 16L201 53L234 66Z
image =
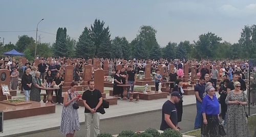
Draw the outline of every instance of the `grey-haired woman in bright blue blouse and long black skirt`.
M220 105L215 94L215 88L208 86L207 94L202 101L203 126L201 128L201 136L213 137L220 136L218 131Z

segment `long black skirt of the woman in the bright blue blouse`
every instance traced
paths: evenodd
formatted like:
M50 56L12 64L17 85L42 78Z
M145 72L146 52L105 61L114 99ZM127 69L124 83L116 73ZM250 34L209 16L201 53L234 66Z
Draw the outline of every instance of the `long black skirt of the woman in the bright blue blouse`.
M201 136L219 137L219 119L218 115L206 115L207 125L203 123L201 127Z

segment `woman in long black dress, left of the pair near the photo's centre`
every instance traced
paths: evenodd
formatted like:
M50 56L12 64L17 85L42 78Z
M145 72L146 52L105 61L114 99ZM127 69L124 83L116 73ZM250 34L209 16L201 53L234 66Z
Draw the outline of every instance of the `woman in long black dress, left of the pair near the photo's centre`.
M123 84L119 73L120 73L120 70L117 69L116 74L114 75L113 95L115 97L118 97L118 95L121 94L122 87L118 87L117 85ZM121 99L121 98L118 97L118 99Z

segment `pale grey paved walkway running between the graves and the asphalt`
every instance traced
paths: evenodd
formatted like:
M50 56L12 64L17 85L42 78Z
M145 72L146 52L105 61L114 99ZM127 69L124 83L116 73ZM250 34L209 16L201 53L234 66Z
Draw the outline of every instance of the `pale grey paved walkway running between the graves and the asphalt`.
M104 88L104 90L108 90ZM45 91L42 91L44 93ZM109 95L106 95L107 97ZM17 91L16 97L24 97ZM169 98L170 96L168 96ZM217 94L217 97L219 95ZM14 97L13 97L14 98ZM111 105L110 108L105 109L105 114L100 116L100 119L114 119L117 117L131 116L134 114L144 114L146 112L159 111L163 103L168 99L156 100L140 100L139 102L129 102L129 100L118 100L117 105ZM183 97L183 105L191 105L196 103L195 95L188 95ZM62 106L56 105L54 114L39 115L19 119L11 119L4 121L4 133L0 136L17 136L25 135L27 133L34 133L43 130L52 130L59 128L61 118ZM79 121L84 122L84 107L78 109Z

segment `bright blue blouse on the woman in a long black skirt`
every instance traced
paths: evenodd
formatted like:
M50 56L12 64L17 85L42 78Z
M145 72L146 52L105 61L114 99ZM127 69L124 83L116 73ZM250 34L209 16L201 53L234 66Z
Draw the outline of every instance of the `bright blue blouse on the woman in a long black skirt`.
M205 95L202 101L201 112L206 115L218 115L220 113L220 104L216 96L212 96L212 99Z

